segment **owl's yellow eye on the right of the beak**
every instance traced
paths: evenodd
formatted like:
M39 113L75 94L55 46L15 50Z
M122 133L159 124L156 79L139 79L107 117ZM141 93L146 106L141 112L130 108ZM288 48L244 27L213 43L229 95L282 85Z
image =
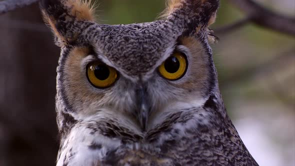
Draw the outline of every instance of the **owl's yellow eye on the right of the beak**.
M180 52L173 53L159 67L159 73L170 80L181 78L187 69L185 56Z

